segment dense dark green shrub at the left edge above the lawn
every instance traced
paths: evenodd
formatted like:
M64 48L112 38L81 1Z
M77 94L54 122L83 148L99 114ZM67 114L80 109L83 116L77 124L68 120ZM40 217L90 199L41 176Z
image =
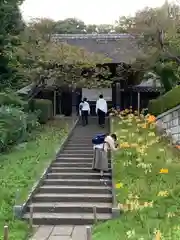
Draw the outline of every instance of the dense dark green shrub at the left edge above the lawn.
M36 126L37 117L33 113L12 106L0 107L0 152L25 141L28 132Z

